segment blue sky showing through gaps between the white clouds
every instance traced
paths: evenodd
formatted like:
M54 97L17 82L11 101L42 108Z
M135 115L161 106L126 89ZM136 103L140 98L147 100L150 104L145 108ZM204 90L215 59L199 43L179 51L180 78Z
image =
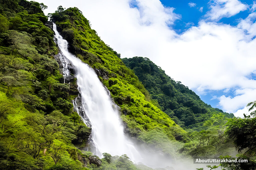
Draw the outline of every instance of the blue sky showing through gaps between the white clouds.
M195 0L195 1L172 1L172 0L161 0L162 4L166 7L175 8L174 12L180 14L180 19L174 22L174 25L170 25L170 29L174 29L177 33L182 34L184 31L192 26L198 26L198 22L205 19L206 12L209 10L209 1L206 0ZM240 1L241 3L248 4L250 7L253 5L253 1ZM223 17L218 22L236 26L241 19L245 19L252 12L250 8L244 11L240 11L238 14L231 17ZM254 38L254 37L253 37ZM250 74L247 76L249 79L256 78L255 74ZM201 99L210 104L214 108L220 108L218 105L219 100L217 96L236 96L235 90L239 87L234 87L229 91L224 90L205 90L204 93L200 95ZM193 89L196 91L196 89ZM239 109L242 109L241 106Z

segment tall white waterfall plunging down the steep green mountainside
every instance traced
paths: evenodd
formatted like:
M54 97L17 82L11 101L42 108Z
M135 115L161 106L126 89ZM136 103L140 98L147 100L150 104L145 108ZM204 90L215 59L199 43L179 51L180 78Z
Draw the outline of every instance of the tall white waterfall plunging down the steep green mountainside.
M127 154L133 161L140 162L141 156L134 144L124 134L124 125L117 106L112 102L108 91L98 79L95 71L68 51L68 42L62 38L53 23L55 38L60 49L60 60L63 64L64 78L70 75L68 65L72 65L77 78L79 95L81 98L80 114L84 123L92 128L91 144L94 154L102 158L102 153L111 155ZM66 81L66 80L65 80ZM79 112L76 100L74 108Z

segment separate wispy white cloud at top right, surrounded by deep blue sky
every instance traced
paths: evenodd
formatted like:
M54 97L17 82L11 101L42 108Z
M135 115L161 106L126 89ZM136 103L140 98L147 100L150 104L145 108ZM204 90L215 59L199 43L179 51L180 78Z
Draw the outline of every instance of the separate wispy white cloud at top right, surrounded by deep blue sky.
M247 8L248 5L238 0L214 0L205 16L210 20L220 20L223 17L232 17Z

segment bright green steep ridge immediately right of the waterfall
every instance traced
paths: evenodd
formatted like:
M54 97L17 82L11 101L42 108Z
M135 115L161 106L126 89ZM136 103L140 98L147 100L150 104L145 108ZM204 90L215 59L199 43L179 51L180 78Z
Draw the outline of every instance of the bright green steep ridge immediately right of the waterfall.
M90 28L89 21L77 8L61 6L51 15L59 31L69 42L70 51L95 69L100 80L124 113L129 133L149 142L152 131L169 139L182 140L185 131L151 101L148 91L137 76L125 66L119 55L107 46Z

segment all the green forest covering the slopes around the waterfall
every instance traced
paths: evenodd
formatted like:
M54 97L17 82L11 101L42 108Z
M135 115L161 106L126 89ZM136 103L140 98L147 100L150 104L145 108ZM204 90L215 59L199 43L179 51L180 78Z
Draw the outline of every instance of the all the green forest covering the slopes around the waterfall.
M233 156L237 150L250 163L221 166L255 169L254 113L230 119L233 115L203 103L147 59L133 58L134 65L124 59L134 66L126 67L78 8L60 6L48 17L45 8L34 1L0 0L0 169L152 169L133 164L125 153L103 153L100 159L79 149L91 129L73 111L76 83L63 81L48 17L69 50L94 68L109 89L131 137L175 160Z

